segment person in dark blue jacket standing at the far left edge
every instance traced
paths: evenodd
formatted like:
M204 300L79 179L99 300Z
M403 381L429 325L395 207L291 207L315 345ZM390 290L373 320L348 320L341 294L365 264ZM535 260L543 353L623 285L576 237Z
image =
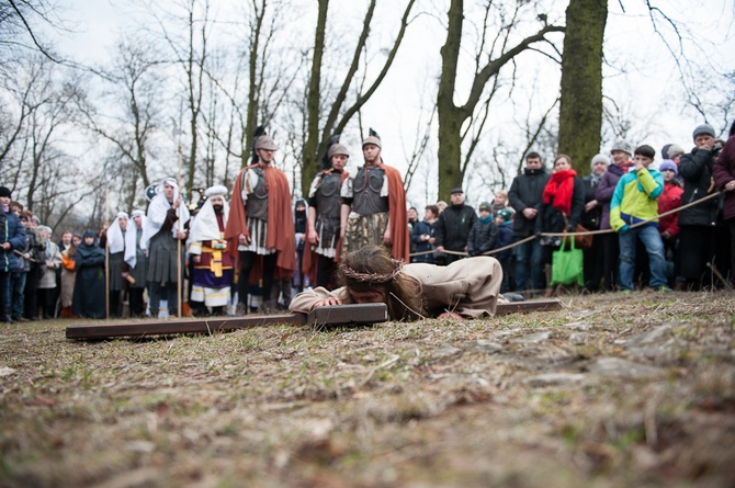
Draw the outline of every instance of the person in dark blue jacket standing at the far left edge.
M0 186L0 322L12 322L10 273L18 266L15 249L25 245L25 231L18 215L10 212L10 189Z

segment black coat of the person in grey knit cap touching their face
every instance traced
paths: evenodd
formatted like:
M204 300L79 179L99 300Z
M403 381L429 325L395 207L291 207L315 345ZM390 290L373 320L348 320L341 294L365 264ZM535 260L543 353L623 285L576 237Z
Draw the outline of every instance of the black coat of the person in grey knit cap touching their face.
M692 149L681 156L679 175L683 179L681 205L686 205L708 196L712 185L714 159L708 149ZM712 190L715 192L716 190ZM699 205L685 208L679 213L679 226L716 226L717 213L721 207L720 197L710 198Z

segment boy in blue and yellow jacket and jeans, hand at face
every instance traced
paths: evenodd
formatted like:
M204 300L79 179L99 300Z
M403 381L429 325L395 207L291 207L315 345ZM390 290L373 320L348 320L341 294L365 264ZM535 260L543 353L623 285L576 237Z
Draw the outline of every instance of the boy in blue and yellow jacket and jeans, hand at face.
M666 281L664 242L658 234L658 196L664 192L664 177L648 169L656 151L643 145L634 151L634 167L622 175L610 202L610 226L620 239L620 287L623 293L633 290L635 245L638 239L648 253L651 287L670 292ZM651 219L649 222L646 222ZM631 228L633 225L643 225Z

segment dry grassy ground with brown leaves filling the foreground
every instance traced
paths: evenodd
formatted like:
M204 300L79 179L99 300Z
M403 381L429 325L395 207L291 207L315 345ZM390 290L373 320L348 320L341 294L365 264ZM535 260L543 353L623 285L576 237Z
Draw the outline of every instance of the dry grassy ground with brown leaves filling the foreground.
M3 326L0 486L735 486L735 295L563 300L100 342Z

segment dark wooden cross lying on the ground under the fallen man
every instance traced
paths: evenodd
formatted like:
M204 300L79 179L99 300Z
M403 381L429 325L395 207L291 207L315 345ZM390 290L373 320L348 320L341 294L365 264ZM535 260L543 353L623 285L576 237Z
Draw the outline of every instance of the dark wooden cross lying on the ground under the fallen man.
M496 315L521 311L547 311L562 308L557 299L499 303ZM89 324L68 326L67 339L91 340L116 337L171 336L177 333L212 333L248 329L273 324L283 325L369 325L388 319L385 304L336 305L318 307L306 314L261 315L246 317L211 317L206 319L146 320L117 324Z

